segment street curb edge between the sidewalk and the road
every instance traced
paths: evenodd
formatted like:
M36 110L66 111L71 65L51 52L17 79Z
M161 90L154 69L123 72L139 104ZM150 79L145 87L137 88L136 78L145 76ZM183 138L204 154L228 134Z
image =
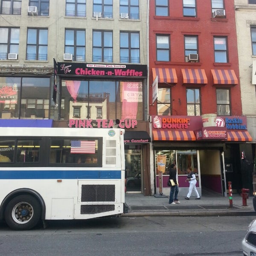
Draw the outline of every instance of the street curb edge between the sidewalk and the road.
M122 213L121 217L161 217L161 216L177 216L177 217L186 217L186 216L256 216L255 211L202 211L202 212L183 212L183 211L172 211L172 212L128 212Z

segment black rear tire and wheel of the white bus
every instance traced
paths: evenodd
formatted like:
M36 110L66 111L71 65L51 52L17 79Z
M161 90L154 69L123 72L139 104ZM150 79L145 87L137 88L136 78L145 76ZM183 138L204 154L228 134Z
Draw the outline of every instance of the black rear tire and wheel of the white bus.
M6 206L5 220L13 230L29 230L38 224L41 207L33 196L19 195Z

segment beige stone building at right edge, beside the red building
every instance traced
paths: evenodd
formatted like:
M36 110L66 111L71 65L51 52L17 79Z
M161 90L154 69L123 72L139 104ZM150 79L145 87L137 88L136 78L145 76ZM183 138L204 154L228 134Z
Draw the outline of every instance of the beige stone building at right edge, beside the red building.
M253 73L255 75L256 65L254 68L253 61L256 61L256 2L235 0L235 11L242 111L247 116L248 131L255 143L256 85L253 83Z

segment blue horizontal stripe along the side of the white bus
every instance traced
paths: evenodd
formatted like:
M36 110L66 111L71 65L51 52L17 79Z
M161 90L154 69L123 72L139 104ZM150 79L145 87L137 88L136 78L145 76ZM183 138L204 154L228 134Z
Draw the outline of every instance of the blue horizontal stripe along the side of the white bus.
M0 171L0 180L121 179L121 171Z

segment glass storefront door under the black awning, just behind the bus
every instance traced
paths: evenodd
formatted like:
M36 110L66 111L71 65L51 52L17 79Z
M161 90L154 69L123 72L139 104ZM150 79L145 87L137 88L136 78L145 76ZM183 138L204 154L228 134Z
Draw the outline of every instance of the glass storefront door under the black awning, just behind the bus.
M125 150L126 192L141 192L141 149Z

